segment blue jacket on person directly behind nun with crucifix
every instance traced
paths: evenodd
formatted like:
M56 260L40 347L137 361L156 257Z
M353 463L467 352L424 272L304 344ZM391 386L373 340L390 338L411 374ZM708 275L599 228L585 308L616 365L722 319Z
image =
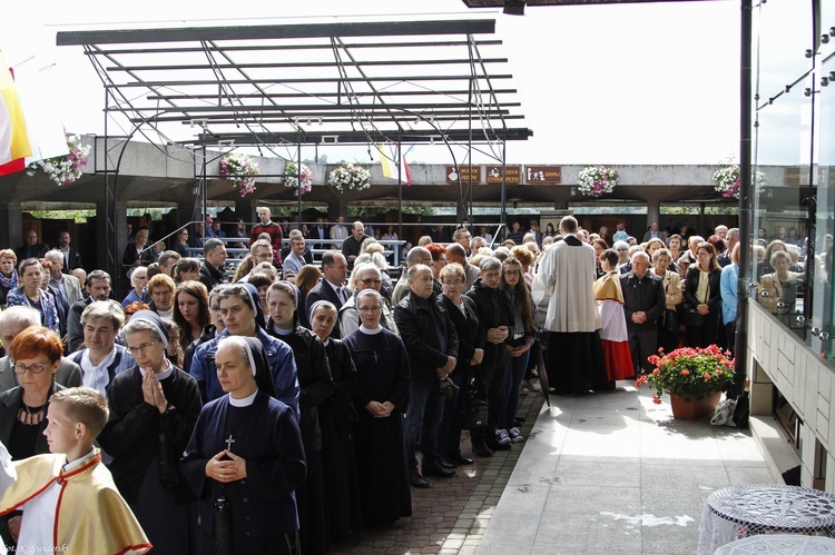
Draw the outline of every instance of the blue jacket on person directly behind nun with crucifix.
M224 330L220 337L228 336ZM296 376L296 360L293 350L286 343L269 337L263 328L258 327L257 337L264 345L264 353L269 360L269 373L273 375L276 398L293 409L298 422L298 378ZM210 339L195 350L191 359L189 374L197 380L200 396L205 403L226 395L217 380L217 367L215 366L215 353L219 338Z

